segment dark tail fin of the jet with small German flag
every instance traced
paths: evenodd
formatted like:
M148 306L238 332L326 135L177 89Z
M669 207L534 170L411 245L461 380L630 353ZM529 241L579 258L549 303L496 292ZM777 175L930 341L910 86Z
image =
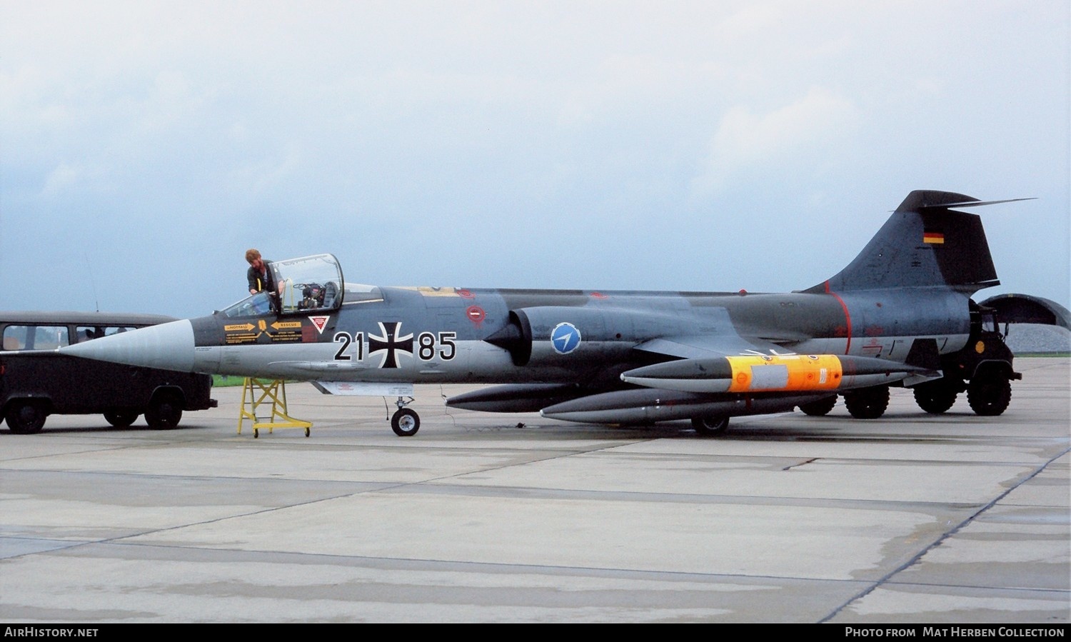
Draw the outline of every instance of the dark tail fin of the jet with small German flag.
M804 292L948 286L968 295L998 285L981 219L952 210L1025 200L982 201L964 194L916 190L848 267Z

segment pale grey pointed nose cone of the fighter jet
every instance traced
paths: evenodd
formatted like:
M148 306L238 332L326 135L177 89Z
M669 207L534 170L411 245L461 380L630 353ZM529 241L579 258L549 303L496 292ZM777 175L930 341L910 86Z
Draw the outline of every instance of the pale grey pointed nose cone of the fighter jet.
M99 361L193 372L194 327L187 319L170 322L76 343L60 352Z

